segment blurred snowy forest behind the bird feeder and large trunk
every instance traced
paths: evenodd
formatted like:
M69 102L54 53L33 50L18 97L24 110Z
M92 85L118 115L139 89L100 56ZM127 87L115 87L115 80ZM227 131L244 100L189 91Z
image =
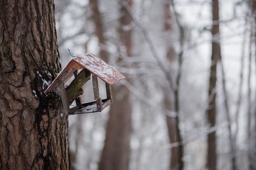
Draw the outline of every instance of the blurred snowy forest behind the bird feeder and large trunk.
M102 113L69 116L72 170L256 169L255 1L55 0L55 15L63 68L70 49L126 75Z

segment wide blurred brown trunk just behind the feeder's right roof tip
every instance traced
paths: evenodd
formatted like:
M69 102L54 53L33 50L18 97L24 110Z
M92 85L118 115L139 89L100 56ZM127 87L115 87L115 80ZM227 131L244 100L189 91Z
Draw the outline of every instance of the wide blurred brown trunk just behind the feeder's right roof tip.
M132 0L120 0L120 3L132 6ZM123 5L120 12L120 40L121 44L126 47L126 55L130 56L132 30L123 30L122 28L123 26L128 26L132 19ZM130 92L125 86L113 86L112 93L114 101L110 106L106 139L99 163L99 170L128 170L132 113ZM117 95L119 96L117 97Z

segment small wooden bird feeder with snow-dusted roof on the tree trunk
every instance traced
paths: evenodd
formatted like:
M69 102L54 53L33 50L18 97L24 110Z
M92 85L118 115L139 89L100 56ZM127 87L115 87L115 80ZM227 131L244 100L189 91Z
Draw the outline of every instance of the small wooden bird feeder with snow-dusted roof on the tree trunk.
M80 73L79 70L81 70ZM65 88L65 83L67 83L73 75L75 78L69 86ZM95 101L82 104L79 95L83 93L82 86L90 79L91 75ZM106 83L106 99L101 99L99 96L97 77ZM62 109L65 115L101 112L112 103L111 84L124 78L125 76L119 73L115 68L106 64L106 62L96 55L88 53L84 54L82 57L72 59L46 89L45 93L59 88ZM70 108L74 100L76 100L76 106Z

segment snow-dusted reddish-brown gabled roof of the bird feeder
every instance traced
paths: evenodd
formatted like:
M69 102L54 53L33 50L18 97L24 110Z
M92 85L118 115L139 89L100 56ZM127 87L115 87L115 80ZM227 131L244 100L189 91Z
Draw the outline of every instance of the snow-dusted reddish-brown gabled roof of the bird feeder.
M67 82L76 69L85 68L104 82L114 84L115 82L124 79L125 76L119 73L115 68L108 65L99 57L92 53L84 54L82 57L72 59L67 66L58 74L52 84L46 89L45 93L58 87L58 79L63 79L64 83Z

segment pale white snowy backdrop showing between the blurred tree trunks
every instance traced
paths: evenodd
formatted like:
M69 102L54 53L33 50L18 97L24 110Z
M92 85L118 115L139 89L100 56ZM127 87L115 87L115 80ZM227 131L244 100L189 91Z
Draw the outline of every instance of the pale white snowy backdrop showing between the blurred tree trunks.
M141 30L133 28L133 56L124 58L131 67L117 66L118 49L115 46L115 27L119 19L117 0L99 0L99 11L103 16L108 43L105 48L111 53L108 64L124 74L132 75L134 84L127 84L133 103L130 170L167 170L170 145L165 115L162 113L163 99L159 82L166 83L164 73L153 57ZM185 28L184 62L180 83L180 129L185 142L185 170L202 170L207 157L207 90L211 59L211 1L177 0L174 1L179 20ZM172 43L179 51L178 32L174 29L172 39L166 40L163 33L163 9L158 0L134 0L133 12L153 41L157 54L165 62L165 43ZM99 46L94 35L94 24L90 19L88 1L55 0L56 30L58 35L61 64L64 68L72 58L72 53L94 53L98 55ZM227 121L222 95L222 81L217 82L217 131L218 167L230 169L229 139L227 126L236 128L235 113L241 72L241 57L244 57L242 104L239 112L238 138L236 142L240 168L247 168L247 117L248 117L248 67L250 18L246 21L248 9L239 0L220 1L220 43L225 79L229 99L231 122ZM247 23L246 23L247 22ZM176 32L175 32L176 30ZM243 41L243 39L245 39ZM168 42L167 42L168 41ZM85 51L85 44L87 51ZM254 48L254 47L253 47ZM254 49L253 56L254 54ZM99 56L100 57L100 56ZM255 59L253 58L253 62ZM139 67L133 67L135 65ZM168 66L168 65L166 65ZM171 67L170 65L169 67ZM175 71L175 67L171 68ZM220 68L218 73L221 77ZM141 83L144 82L144 83ZM252 64L252 101L255 94L255 65ZM101 82L101 84L103 84ZM85 84L83 101L93 96L91 82ZM144 89L147 88L147 91ZM100 89L100 93L104 89ZM101 93L102 94L102 93ZM146 101L147 104L145 104ZM251 107L254 110L254 107ZM97 165L105 138L108 108L102 113L69 116L70 150L77 151L75 166L77 170L97 170Z

